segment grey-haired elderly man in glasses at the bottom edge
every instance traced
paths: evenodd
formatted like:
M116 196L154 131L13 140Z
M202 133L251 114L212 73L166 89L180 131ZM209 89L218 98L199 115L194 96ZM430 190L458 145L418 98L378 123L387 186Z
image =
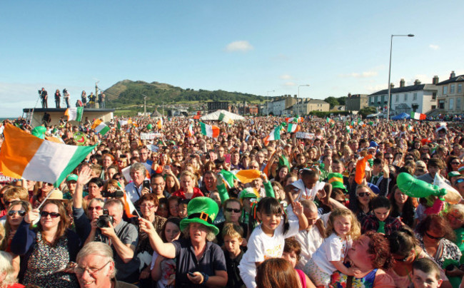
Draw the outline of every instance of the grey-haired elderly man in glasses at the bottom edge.
M74 268L79 285L93 288L132 288L133 284L116 280L113 251L102 242L89 242L76 257Z

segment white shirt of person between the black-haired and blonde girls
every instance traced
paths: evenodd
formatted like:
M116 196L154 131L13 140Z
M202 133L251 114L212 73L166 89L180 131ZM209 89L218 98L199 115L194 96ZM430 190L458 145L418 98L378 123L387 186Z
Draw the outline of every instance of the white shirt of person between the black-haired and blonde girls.
M328 217L331 212L320 215L319 218L323 220L324 226L327 226ZM301 230L295 236L296 240L301 244L300 261L296 264L296 269L303 270L305 264L311 259L312 255L324 242L324 235L321 235L316 225L311 226L309 230Z

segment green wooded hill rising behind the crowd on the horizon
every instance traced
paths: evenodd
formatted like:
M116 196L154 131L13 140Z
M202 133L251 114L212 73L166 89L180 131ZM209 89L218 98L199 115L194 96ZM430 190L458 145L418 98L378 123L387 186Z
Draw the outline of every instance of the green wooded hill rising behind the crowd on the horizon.
M231 101L231 102L262 102L264 96L256 96L248 93L227 91L206 91L180 88L166 83L146 83L144 81L123 80L106 89L106 106L108 108L121 108L143 104L143 95L146 103L186 103L206 101Z

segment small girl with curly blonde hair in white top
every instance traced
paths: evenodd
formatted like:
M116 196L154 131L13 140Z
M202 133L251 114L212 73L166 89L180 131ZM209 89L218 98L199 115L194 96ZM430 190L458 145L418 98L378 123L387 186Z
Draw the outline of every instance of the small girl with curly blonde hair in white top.
M360 235L359 222L348 209L336 209L331 212L326 228L326 240L314 252L303 271L316 286L328 287L331 275L337 270L353 276L353 268L347 268L343 261L353 240Z

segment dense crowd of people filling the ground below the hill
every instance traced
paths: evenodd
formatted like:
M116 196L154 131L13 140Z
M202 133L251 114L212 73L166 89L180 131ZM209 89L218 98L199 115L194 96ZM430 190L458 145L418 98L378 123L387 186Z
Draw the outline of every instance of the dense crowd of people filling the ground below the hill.
M460 123L120 120L46 126L96 148L58 187L1 184L0 287L461 285Z

